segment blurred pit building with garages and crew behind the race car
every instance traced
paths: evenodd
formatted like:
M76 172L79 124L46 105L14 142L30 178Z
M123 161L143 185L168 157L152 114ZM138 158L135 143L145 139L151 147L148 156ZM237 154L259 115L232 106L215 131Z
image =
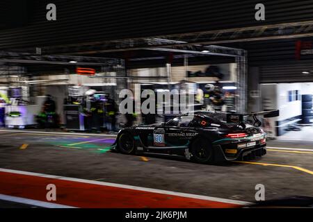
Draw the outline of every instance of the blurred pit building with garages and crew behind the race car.
M56 0L56 21L48 3L1 3L3 128L115 131L170 118L118 112L120 90L140 85L188 89L195 110L279 109L264 122L271 137L312 133L310 1L264 1L262 21L253 1Z

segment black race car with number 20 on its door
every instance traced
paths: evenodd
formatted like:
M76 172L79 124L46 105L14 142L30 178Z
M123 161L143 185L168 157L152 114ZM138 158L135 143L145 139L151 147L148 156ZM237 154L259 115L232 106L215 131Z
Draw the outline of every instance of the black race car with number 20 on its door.
M197 111L182 114L166 123L123 128L113 151L162 153L185 156L195 162L246 160L266 154L266 133L258 115L277 117L278 110L234 114ZM244 123L252 117L254 123Z

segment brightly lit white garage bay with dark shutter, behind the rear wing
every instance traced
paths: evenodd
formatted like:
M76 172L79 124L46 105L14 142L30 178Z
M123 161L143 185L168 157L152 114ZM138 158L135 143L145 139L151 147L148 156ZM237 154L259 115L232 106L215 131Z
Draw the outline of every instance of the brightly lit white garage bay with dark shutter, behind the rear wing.
M313 140L313 66L308 61L260 68L264 110L278 109L280 116L264 119L268 137Z

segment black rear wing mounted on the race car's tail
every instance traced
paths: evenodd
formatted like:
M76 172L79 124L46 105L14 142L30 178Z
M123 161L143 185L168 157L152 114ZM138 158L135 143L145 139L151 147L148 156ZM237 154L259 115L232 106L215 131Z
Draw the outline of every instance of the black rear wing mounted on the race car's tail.
M246 125L243 123L243 117L252 117L255 121L253 126L261 126L261 121L257 119L257 116L264 116L264 118L278 117L280 115L280 110L266 110L261 112L251 112L248 114L236 114L236 113L227 113L227 123L238 123L238 125L246 128ZM237 125L237 126L238 126Z

